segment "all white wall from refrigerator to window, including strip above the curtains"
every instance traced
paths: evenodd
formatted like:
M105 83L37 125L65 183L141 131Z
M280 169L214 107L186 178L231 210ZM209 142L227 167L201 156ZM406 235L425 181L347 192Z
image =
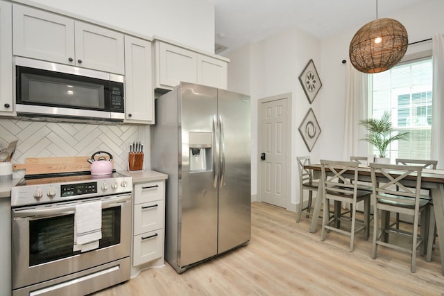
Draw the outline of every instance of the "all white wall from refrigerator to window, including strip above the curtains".
M393 15L379 15L379 17L391 17L400 21L407 28L409 42L416 42L430 38L434 33L444 32L443 11L444 1L436 0ZM364 19L360 26L325 40L318 40L304 31L293 28L227 54L231 59L228 64L228 89L248 93L249 87L252 97L253 195L257 194L257 100L259 98L285 92L293 94L290 209L294 209L294 204L299 202L296 156L311 155L311 159L315 162L321 157L343 158L346 64L343 64L342 60L348 60L350 40L368 21L371 19ZM429 47L431 47L430 42L409 46L407 54ZM311 58L323 85L310 105L300 86L298 76ZM244 85L239 85L240 81L243 81ZM311 153L298 132L298 126L309 107L313 108L322 130Z

